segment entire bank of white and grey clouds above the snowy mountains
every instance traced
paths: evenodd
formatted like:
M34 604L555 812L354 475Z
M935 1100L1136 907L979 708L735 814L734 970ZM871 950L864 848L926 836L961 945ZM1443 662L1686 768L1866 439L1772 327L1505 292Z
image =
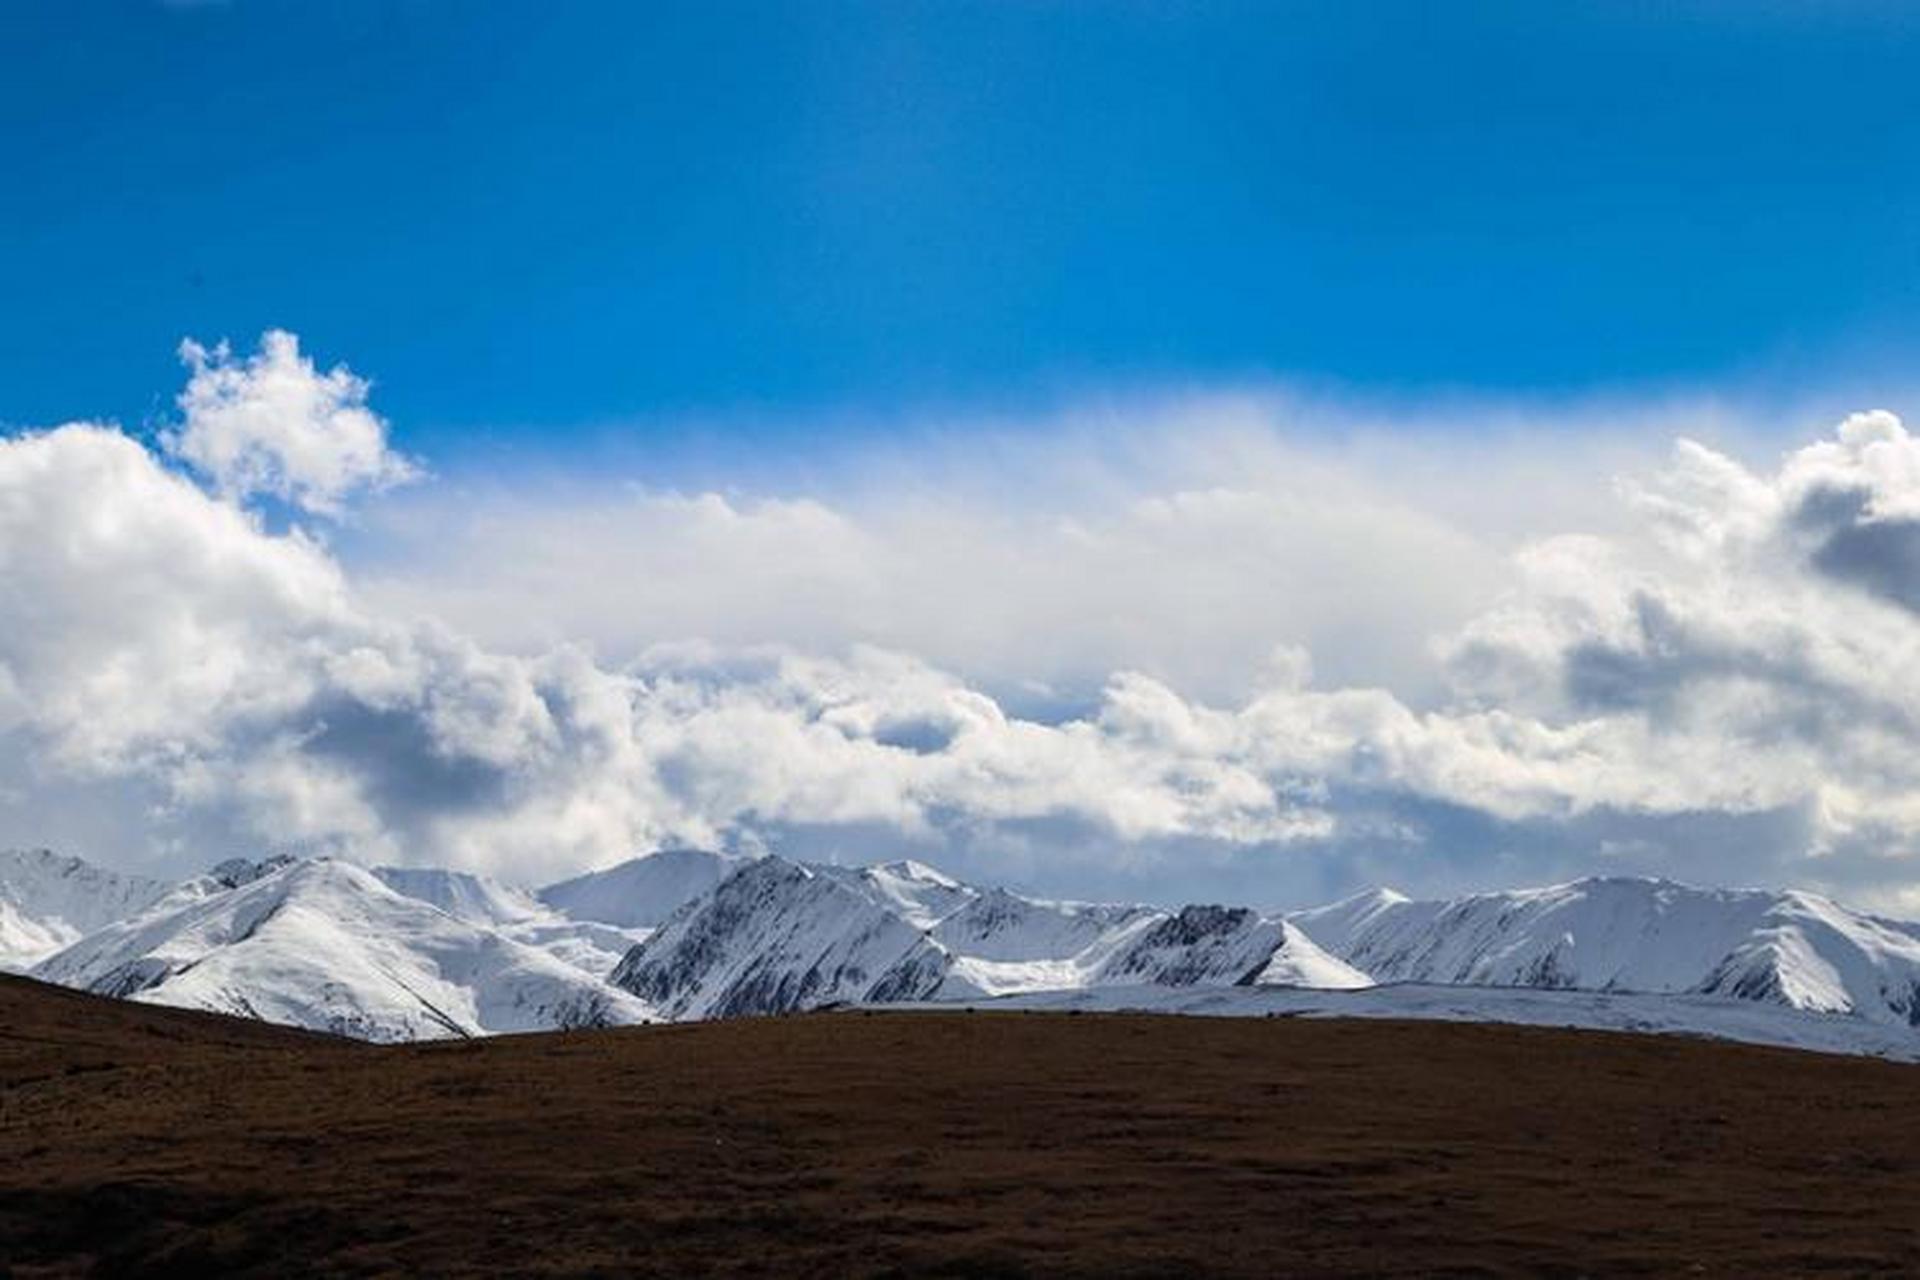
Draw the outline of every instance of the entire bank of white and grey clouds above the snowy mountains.
M96 791L125 846L86 852L121 862L252 842L540 879L770 842L1154 896L1613 865L1920 906L1920 441L1887 413L1774 466L1680 441L1588 532L1513 547L1336 468L1277 491L1242 466L920 526L910 501L518 507L497 541L449 539L461 574L384 562L369 591L250 507L338 516L415 474L367 384L288 334L188 365L159 453L100 424L0 439L4 839ZM561 599L543 574L680 616L632 652L476 637L447 604L488 574L493 616ZM902 637L937 612L895 597L943 574L929 656ZM970 616L991 581L1012 620ZM806 595L829 606L766 643L781 618L755 603ZM1329 677L1311 645L1377 626L1415 635L1356 641ZM1148 662L1023 699L1021 628L1041 683ZM1187 679L1210 662L1235 677Z

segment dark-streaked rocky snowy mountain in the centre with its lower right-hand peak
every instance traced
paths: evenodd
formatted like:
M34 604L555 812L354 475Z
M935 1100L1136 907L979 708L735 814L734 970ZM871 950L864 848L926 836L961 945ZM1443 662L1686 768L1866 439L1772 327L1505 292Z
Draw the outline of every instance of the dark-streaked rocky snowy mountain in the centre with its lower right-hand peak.
M689 902L612 981L668 1017L720 1017L1110 983L1352 988L1367 975L1248 910L1041 902L914 862L764 858Z

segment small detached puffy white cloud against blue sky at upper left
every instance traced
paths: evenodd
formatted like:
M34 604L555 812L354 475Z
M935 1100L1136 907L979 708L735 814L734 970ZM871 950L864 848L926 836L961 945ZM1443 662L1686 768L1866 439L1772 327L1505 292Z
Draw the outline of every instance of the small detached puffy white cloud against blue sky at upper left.
M294 334L269 330L244 359L225 342L207 349L188 340L180 359L192 370L179 399L184 420L161 443L221 493L336 516L355 493L419 478L367 409L367 382L344 365L321 372Z

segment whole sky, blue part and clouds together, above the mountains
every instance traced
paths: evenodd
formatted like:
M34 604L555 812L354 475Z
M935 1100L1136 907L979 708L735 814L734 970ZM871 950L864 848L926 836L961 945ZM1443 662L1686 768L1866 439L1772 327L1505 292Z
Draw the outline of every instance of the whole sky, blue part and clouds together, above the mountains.
M0 846L1920 915L1912 6L21 0L0 59Z

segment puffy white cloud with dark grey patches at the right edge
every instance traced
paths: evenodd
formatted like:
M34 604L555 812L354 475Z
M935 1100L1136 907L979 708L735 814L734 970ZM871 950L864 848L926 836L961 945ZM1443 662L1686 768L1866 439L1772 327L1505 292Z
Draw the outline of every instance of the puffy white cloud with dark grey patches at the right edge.
M1857 415L1772 472L1682 441L1624 497L1642 537L1528 549L1513 595L1450 643L1461 699L1586 725L1630 766L1615 804L1805 806L1811 854L1910 885L1920 629L1901 545L1920 441ZM1605 775L1565 791L1597 798Z

